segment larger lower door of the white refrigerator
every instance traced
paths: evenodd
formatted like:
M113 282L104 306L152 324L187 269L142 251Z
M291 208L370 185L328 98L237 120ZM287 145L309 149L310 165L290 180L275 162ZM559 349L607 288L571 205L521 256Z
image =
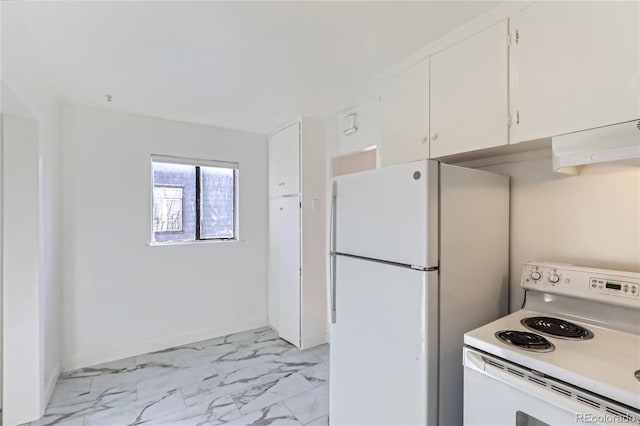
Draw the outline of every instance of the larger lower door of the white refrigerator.
M435 424L437 272L345 256L335 268L331 425Z

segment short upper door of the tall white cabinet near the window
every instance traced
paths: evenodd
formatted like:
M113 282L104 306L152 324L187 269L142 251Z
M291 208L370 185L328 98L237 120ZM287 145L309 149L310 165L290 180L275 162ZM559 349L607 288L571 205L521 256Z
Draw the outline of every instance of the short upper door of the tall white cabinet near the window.
M300 123L269 139L269 195L300 193Z

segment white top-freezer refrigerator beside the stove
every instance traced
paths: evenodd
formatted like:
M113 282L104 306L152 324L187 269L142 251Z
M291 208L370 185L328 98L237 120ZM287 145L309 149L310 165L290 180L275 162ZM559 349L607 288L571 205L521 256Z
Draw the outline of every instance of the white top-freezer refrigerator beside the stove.
M507 313L509 178L423 160L332 184L330 424L462 424L463 334Z

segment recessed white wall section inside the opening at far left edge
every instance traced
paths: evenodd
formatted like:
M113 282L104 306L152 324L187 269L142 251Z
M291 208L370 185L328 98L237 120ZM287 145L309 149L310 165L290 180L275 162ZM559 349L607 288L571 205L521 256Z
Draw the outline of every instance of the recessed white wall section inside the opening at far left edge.
M2 119L3 406L4 423L11 425L40 411L40 174L38 122L6 114Z

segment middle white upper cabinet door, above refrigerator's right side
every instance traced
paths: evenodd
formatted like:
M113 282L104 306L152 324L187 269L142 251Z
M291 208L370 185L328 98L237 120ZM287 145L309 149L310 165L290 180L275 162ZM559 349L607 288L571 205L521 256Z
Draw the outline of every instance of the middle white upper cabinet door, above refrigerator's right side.
M431 157L508 143L508 25L431 57Z

